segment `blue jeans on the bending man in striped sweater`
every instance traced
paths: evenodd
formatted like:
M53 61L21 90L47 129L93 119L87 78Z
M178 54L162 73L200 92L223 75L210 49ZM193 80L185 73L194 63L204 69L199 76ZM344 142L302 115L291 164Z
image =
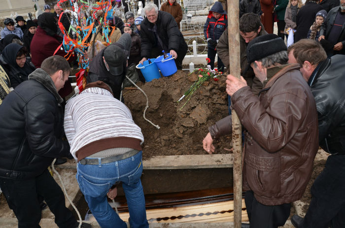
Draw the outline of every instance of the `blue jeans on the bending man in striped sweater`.
M88 158L86 158L88 159ZM107 201L107 192L116 182L122 182L131 228L148 228L145 198L140 176L142 152L113 163L77 164L76 178L92 214L102 228L127 228L127 225Z

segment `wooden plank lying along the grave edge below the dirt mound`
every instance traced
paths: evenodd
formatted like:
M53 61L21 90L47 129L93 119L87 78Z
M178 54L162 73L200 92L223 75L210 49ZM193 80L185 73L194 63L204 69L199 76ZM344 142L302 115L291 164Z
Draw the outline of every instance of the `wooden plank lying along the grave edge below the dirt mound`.
M154 156L142 161L144 169L228 168L233 154Z

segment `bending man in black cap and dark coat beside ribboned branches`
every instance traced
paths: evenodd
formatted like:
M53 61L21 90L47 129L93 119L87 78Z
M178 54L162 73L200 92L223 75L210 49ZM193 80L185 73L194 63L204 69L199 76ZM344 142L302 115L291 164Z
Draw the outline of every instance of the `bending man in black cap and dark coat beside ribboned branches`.
M105 47L92 59L87 83L105 82L111 87L114 98L120 100L130 50L131 35L123 33L119 40Z

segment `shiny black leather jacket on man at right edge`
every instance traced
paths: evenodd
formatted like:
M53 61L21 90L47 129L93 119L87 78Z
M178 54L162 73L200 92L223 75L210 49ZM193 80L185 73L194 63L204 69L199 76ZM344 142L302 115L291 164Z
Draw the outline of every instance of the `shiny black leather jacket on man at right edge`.
M330 154L345 154L345 56L318 64L308 84L315 98L319 143Z

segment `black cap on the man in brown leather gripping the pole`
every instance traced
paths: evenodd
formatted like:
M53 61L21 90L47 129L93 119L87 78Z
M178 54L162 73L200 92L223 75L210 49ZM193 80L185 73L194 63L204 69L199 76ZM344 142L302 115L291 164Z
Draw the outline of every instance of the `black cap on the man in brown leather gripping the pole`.
M284 40L276 34L260 35L250 41L247 46L248 64L286 50Z

